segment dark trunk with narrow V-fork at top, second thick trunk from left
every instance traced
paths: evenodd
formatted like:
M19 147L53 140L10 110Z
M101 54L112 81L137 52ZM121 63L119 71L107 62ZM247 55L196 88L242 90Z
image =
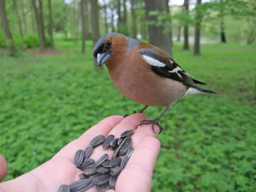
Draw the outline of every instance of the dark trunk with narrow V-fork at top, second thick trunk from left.
M36 0L32 0L32 5L35 12L36 17L36 28L40 40L40 51L45 51L46 49L46 40L45 40L45 33L44 33L44 19L43 17L43 10L42 10L42 2L41 0L38 0L39 3L39 10L36 7Z

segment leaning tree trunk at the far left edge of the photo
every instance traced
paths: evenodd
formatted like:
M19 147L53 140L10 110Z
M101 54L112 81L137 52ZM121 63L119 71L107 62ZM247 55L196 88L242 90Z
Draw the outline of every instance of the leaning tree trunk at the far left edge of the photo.
M13 42L12 32L10 31L9 22L7 19L5 0L0 0L0 16L4 31L4 37L6 40L6 46L10 50L11 54L13 54L15 52L15 45Z

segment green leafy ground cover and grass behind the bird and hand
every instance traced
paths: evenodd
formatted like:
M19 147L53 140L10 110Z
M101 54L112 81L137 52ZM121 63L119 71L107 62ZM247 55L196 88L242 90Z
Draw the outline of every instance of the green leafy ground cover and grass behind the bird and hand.
M80 44L56 42L58 49ZM152 191L254 191L256 164L255 50L202 46L202 56L181 51L174 58L223 97L193 95L164 116L161 152ZM125 99L106 68L93 70L87 54L0 57L0 152L8 161L5 180L49 160L60 148L110 115L142 107ZM220 49L221 48L221 49ZM148 108L155 118L163 108Z

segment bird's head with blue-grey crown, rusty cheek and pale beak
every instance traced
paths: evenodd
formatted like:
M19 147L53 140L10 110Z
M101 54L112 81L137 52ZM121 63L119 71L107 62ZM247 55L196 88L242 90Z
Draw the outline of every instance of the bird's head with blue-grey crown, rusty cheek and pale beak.
M131 49L138 46L138 40L129 38L120 33L106 33L102 35L93 47L93 56L98 65L106 63L109 58L128 54Z

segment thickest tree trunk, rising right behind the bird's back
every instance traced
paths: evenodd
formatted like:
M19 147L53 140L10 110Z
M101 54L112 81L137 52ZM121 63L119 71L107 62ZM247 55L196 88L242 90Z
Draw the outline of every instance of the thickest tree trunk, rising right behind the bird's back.
M146 18L148 22L157 22L156 15L150 15L152 11L166 12L166 0L144 0L146 8ZM149 43L155 45L168 54L172 54L172 46L170 44L170 38L164 34L164 27L148 24L148 40Z

